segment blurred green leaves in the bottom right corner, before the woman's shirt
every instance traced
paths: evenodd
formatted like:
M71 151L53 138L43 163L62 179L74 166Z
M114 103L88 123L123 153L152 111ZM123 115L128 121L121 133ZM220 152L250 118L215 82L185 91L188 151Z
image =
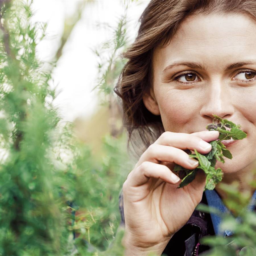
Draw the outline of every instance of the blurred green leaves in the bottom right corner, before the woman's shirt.
M206 236L200 243L207 244L211 249L202 255L255 255L256 253L256 213L247 210L250 200L250 193L241 193L238 183L231 185L220 184L220 188L227 194L224 200L225 205L232 211L232 214L220 213L217 209L206 205L198 205L197 210L213 212L222 218L220 231L231 230L231 237ZM254 187L255 189L255 187ZM236 219L236 217L238 217Z

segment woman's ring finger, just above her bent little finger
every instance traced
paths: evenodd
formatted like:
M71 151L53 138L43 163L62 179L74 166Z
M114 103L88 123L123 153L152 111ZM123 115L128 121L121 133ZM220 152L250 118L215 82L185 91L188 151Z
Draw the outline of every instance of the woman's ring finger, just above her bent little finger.
M189 170L195 169L199 164L197 160L189 158L189 155L185 151L172 146L152 144L146 151L147 154L143 154L140 158L141 163L145 161L154 163L172 162L179 164Z

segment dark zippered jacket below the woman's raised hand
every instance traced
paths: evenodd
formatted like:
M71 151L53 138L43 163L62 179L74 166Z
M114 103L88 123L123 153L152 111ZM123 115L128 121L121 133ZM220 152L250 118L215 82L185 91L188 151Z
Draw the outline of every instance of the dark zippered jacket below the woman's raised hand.
M205 193L201 203L207 205ZM119 210L121 213L121 225L125 225L123 213L123 193L119 195ZM195 210L187 223L174 234L163 253L172 256L195 256L209 249L202 245L199 239L203 236L214 235L212 220L209 213Z

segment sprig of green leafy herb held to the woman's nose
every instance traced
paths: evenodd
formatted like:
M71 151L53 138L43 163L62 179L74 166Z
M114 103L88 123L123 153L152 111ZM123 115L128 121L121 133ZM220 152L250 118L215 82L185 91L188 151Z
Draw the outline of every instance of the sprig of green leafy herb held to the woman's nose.
M205 189L213 190L216 184L222 180L223 176L223 172L220 168L215 169L217 160L224 163L224 156L232 159L232 154L221 142L231 138L233 140L241 140L247 136L246 133L240 129L240 125L236 125L227 119L222 119L217 115L213 116L214 118L212 123L208 124L206 129L209 131L219 131L220 135L217 140L210 142L212 149L208 154L200 154L196 149L194 150L195 154L190 151L189 157L195 158L199 161L197 168L188 170L180 165L176 165L174 167L174 171L178 172L179 177L183 177L179 184L179 188L184 187L193 181L198 170L201 169L206 174Z

